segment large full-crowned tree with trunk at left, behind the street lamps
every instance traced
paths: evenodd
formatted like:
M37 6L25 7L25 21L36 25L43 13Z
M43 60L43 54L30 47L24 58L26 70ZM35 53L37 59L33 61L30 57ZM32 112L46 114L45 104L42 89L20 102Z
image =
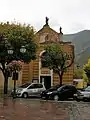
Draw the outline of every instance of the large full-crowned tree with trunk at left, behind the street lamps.
M26 48L25 53L20 48ZM13 54L8 54L8 49L13 49ZM4 75L4 93L7 94L8 76L7 65L13 60L29 63L36 57L35 30L30 25L0 24L0 70Z

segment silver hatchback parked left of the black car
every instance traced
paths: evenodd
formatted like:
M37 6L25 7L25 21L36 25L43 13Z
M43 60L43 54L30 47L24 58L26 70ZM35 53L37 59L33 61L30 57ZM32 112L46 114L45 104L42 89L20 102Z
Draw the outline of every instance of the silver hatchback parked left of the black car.
M27 98L29 96L37 96L39 97L41 92L45 90L44 85L41 83L26 83L21 86L19 86L16 89L16 96L17 97L24 97ZM13 95L12 91L12 95Z

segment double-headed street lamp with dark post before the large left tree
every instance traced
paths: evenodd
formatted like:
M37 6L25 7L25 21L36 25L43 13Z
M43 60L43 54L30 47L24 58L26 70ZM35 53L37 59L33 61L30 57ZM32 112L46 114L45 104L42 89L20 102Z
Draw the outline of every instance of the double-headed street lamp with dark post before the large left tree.
M13 48L9 48L8 50L8 54L13 54ZM21 46L20 48L20 52L21 53L25 53L26 52L26 48L25 46ZM17 73L17 70L16 68L14 69L14 72L13 72L13 80L14 80L14 89L13 89L13 98L16 98L16 80L18 79L18 73Z

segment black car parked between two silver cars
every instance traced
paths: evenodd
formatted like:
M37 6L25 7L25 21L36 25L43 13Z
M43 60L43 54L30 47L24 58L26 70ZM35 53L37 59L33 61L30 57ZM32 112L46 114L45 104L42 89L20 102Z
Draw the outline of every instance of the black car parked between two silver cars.
M63 85L59 88L56 88L56 90L49 89L45 93L42 92L41 97L45 97L47 99L51 100L67 100L69 98L74 98L74 94L77 93L77 89L73 85Z

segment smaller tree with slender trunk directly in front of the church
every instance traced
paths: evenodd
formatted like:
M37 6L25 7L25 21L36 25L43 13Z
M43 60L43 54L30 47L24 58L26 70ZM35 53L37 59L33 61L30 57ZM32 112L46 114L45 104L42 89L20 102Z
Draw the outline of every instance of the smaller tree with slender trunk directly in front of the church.
M50 44L45 47L45 55L41 57L44 66L53 69L59 75L60 85L65 71L73 64L74 56L68 54L60 47L60 44Z

